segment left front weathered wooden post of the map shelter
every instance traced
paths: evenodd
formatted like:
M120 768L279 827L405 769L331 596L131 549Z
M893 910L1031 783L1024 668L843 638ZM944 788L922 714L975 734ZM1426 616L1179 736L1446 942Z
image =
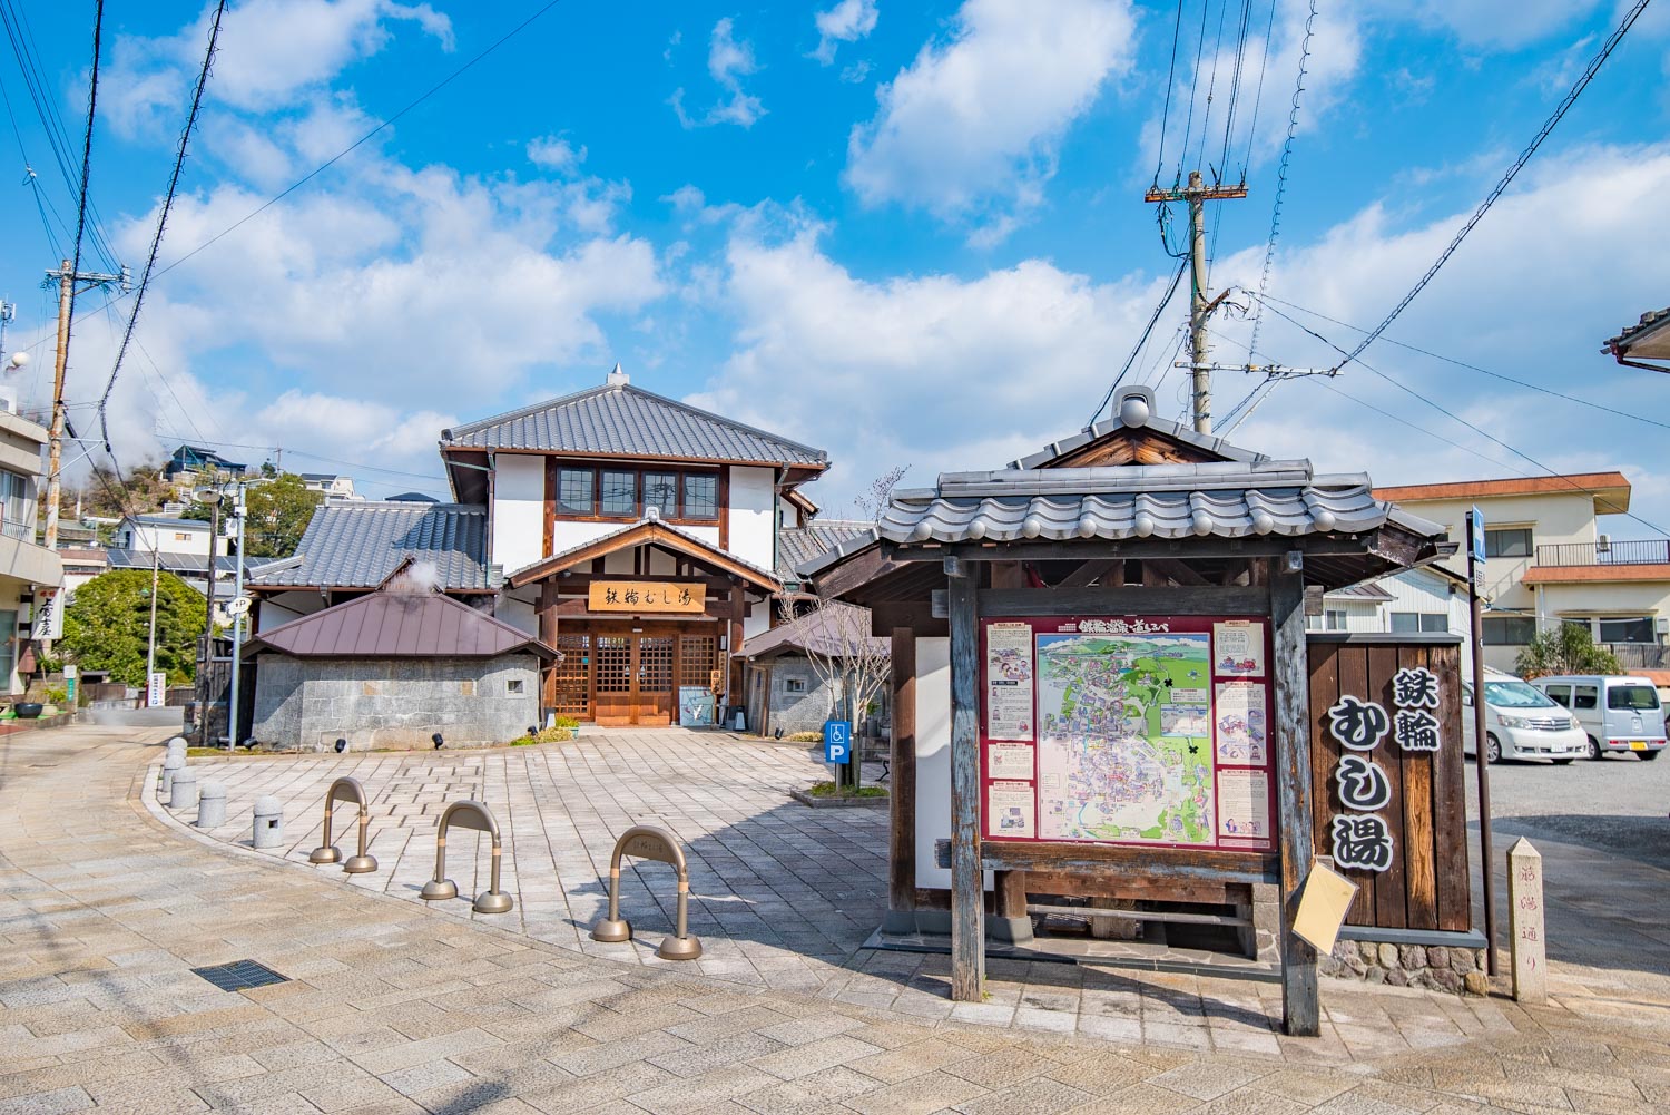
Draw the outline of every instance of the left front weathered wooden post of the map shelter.
M985 996L980 871L980 617L977 568L945 558L950 582L950 996Z

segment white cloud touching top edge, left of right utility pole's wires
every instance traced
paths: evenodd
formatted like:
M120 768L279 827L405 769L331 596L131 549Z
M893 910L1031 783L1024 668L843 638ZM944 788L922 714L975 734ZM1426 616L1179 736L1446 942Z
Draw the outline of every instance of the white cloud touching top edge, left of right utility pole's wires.
M1129 72L1127 0L967 0L944 42L877 90L852 130L847 184L867 204L902 202L1000 236L1037 207L1055 152L1109 77Z

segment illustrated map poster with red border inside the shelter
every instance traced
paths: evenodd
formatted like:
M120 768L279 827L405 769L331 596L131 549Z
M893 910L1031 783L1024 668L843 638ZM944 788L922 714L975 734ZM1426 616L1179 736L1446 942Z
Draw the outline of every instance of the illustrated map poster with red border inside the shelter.
M1268 624L982 624L987 839L1274 848Z

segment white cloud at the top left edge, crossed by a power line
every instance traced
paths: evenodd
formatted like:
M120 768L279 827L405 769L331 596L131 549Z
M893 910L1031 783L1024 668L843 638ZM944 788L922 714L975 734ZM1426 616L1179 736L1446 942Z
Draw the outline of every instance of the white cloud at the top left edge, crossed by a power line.
M209 42L209 7L177 35L120 35L107 70L110 120L124 135L164 132L184 120L190 84ZM245 0L227 10L209 97L271 112L304 100L351 64L381 52L389 23L414 23L443 50L453 25L428 3L394 0Z

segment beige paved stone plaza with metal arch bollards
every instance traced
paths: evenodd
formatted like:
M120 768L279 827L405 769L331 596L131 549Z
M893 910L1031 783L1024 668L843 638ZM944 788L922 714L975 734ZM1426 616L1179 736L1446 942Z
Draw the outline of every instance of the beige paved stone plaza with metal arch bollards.
M387 789L376 782L379 762L409 764L401 777L429 787L426 801L483 784L494 801L498 787L494 804L506 802L511 814L501 812L516 868L508 881L534 894L536 874L558 879L556 891L529 901L534 909L538 901L595 906L598 859L611 836L581 841L578 831L665 822L693 849L703 841L715 849L701 868L711 874L696 886L703 918L711 918L710 953L725 960L730 951L720 939L728 904L720 899L731 896L755 914L733 921L728 939L741 963L728 970L586 955L573 926L569 944L539 939L534 914L468 918L429 908L406 889L428 874L433 854L433 829L416 821L396 826L379 816L379 831L406 832L379 836L389 841L376 848L387 856L384 871L369 883L349 879L159 821L140 797L160 749L124 732L72 729L0 742L0 934L8 946L0 955L0 1115L95 1105L1329 1115L1670 1105L1670 998L1642 988L1622 996L1558 971L1555 1001L1535 1010L1329 981L1324 1036L1294 1040L1271 1030L1273 988L1263 985L1034 965L994 971L995 1010L965 1020L944 1000L942 961L842 956L847 934L868 928L857 903L878 901L878 856L863 851L875 817L788 814L773 794L815 774L798 751L726 744L691 752L675 747L673 734L660 736L334 766L224 766L242 767L247 779L234 786L234 801L257 782L266 791L287 779L291 846L302 856L316 826L297 811L317 809L329 777L361 762L372 764L357 774L379 802ZM658 759L666 747L671 757ZM741 756L758 764L745 776L736 772ZM678 782L666 764L691 777ZM389 769L389 784L399 769ZM528 774L539 769L548 782ZM543 826L518 827L518 796ZM544 834L538 854L528 851L533 831ZM351 826L341 843L349 839ZM845 841L835 868L817 868L827 863L825 841ZM461 891L484 886L464 868L471 843L454 841ZM795 863L798 873L782 866ZM780 873L825 898L837 886L855 891L853 924L818 931L825 955L797 953L798 923L757 909L783 899L778 888L790 883ZM838 883L820 883L825 874ZM748 889L723 889L730 879ZM448 906L466 909L463 901ZM770 934L757 923L777 939L763 939ZM785 953L813 976L805 991L772 981L780 963L788 970ZM289 981L229 993L190 973L240 958ZM1227 1038L1234 1033L1263 1043L1241 1046Z

